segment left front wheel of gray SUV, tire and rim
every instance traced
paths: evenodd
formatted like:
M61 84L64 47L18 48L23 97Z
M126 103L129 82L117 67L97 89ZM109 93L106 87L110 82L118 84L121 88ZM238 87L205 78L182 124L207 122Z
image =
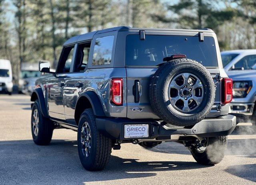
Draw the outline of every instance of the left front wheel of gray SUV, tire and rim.
M38 100L32 106L31 131L33 141L37 145L48 145L52 140L53 124L45 118L41 111Z

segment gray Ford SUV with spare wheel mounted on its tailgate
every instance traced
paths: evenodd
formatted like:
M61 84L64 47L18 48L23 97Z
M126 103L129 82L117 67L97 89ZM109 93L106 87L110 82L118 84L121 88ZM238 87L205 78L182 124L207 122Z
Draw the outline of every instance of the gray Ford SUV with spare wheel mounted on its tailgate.
M94 31L64 43L55 72L39 67L49 75L31 96L33 140L47 145L54 129L77 131L87 170L103 169L123 143L179 142L204 165L224 157L236 117L212 30Z

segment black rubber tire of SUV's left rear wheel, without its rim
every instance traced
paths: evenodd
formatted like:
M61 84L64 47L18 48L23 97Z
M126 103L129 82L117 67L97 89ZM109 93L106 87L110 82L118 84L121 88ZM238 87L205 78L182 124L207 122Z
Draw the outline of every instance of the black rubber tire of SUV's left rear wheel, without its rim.
M88 122L91 132L91 152L86 157L82 153L81 144L81 130L85 122ZM110 159L110 154L112 150L112 140L103 136L96 127L95 116L93 110L88 108L80 116L78 124L78 155L83 167L88 171L100 171L106 167Z

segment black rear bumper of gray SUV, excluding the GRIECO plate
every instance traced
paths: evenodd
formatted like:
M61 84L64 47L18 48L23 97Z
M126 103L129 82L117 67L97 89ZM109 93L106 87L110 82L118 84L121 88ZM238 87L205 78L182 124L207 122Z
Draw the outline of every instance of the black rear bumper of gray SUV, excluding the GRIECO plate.
M154 120L131 120L128 118L96 118L98 130L105 136L117 140L130 140L124 138L125 124L149 124L148 138L137 139L160 139L170 138L171 135L180 134L183 136L196 135L198 137L227 136L236 127L236 116L226 115L218 118L206 118L192 128L163 126ZM132 138L136 139L136 138Z

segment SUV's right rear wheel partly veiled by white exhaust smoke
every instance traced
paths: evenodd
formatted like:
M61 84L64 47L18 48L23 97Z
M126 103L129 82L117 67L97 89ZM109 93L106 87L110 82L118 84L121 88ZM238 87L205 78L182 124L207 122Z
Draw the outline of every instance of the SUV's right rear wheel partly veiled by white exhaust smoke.
M203 165L215 165L222 161L228 146L227 136L206 138L207 146L190 150L194 159Z

